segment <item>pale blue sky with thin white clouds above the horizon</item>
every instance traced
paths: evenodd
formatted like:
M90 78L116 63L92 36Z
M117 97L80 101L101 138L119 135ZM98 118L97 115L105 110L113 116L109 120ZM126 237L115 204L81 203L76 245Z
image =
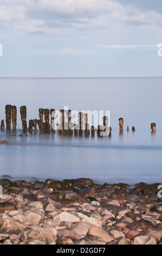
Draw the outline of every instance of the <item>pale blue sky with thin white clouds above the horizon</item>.
M0 77L162 76L161 28L161 0L0 0Z

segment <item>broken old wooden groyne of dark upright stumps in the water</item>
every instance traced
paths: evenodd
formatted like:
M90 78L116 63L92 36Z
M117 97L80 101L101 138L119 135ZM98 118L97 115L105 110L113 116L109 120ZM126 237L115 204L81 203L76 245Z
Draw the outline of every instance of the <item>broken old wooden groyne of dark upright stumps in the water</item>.
M112 135L112 128L108 127L108 117L103 116L102 117L102 125L90 126L88 124L88 113L82 113L79 112L77 114L78 118L78 124L72 123L72 111L71 110L64 110L60 109L60 123L55 124L56 119L56 111L55 109L51 108L39 108L38 109L38 115L39 119L30 119L29 124L27 126L27 107L22 106L20 107L20 115L21 115L21 121L22 121L22 130L23 132L27 133L37 133L37 131L40 131L40 133L54 133L56 130L58 133L66 133L66 134L72 134L74 135L82 135L83 133L85 135L95 135L95 132L99 136L105 136L108 135L111 137ZM66 121L67 120L67 121ZM119 118L119 132L120 135L123 134L123 127L124 127L124 119ZM6 105L5 106L5 123L6 123L6 130L11 130L11 121L12 121L12 130L16 130L17 126L17 108L16 106L12 105ZM55 126L56 125L56 126ZM56 128L55 128L56 127ZM1 130L3 131L5 129L4 120L1 121ZM156 125L155 123L151 123L151 130L153 133L156 131ZM129 131L129 126L127 125L127 132ZM132 131L135 131L135 127L132 126Z

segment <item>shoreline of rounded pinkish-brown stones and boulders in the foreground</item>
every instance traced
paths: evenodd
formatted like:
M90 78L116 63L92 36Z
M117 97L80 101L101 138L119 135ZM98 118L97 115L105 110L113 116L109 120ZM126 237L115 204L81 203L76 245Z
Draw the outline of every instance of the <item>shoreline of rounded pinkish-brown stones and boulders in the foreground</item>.
M0 179L2 245L161 245L159 184Z

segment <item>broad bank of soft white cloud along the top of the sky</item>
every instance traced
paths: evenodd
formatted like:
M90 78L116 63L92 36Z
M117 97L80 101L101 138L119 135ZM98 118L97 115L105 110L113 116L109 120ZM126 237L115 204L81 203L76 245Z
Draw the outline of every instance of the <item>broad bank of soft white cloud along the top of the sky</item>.
M2 0L0 25L20 33L60 33L62 28L99 29L118 25L162 26L156 11L118 0ZM38 23L42 21L42 23ZM35 22L34 22L35 21ZM57 30L59 28L60 31Z

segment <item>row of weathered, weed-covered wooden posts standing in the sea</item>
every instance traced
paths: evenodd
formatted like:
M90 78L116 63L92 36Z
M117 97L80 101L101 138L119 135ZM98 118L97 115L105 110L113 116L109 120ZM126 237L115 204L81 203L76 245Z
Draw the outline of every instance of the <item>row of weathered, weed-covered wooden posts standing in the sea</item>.
M88 124L88 114L83 114L82 112L79 112L79 129L77 129L76 125L73 125L73 130L69 129L69 125L64 127L64 109L60 109L60 113L61 113L61 124L62 124L62 129L60 129L60 125L57 124L57 130L58 132L61 133L74 133L77 134L79 132L79 134L83 133L83 118L84 118L84 123L85 123L85 134L91 134L94 135L95 130L97 130L98 135L100 135L101 131L103 127L106 127L107 124L107 117L103 117L103 126L98 125L98 129L95 129L94 126L90 127L89 130L89 124ZM68 124L71 123L71 117L70 117L70 112L71 110L67 111L67 115L68 115ZM44 133L50 133L50 132L55 132L55 129L53 129L53 126L51 125L55 119L55 109L43 109L43 108L39 108L39 117L40 119L33 119L33 120L29 120L29 126L27 127L27 107L26 106L22 106L20 107L20 114L21 114L21 121L22 121L22 129L24 132L33 132L33 127L34 127L34 132L37 132L37 125L38 128L40 130L40 133L44 132ZM45 122L43 122L43 115L44 115L44 120ZM51 117L51 124L49 121L49 115ZM6 127L7 130L11 130L11 121L12 121L12 129L16 130L16 125L17 125L17 108L16 106L11 106L11 105L6 105L5 106L5 122L6 122ZM71 123L72 124L72 123ZM122 134L123 132L123 125L124 125L124 120L123 118L119 118L119 130L120 133ZM155 132L155 123L151 123L151 130L152 132ZM72 127L72 126L71 126ZM104 128L106 129L106 128ZM4 120L1 121L1 130L4 130ZM111 127L109 127L109 136L111 136ZM127 131L129 131L129 127L127 126ZM132 127L132 131L135 131L135 127Z

